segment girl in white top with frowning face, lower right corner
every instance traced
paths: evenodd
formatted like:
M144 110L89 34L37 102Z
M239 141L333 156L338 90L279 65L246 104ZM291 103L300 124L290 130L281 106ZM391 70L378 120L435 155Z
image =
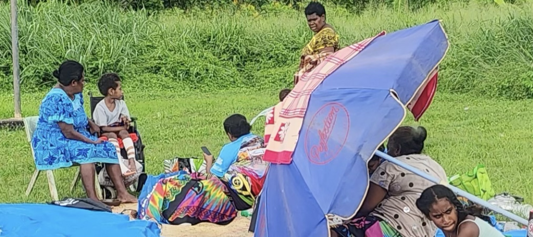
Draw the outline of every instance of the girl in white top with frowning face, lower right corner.
M490 218L482 215L482 208L463 203L448 187L434 185L422 192L416 200L418 210L429 218L446 237L504 237L492 227Z

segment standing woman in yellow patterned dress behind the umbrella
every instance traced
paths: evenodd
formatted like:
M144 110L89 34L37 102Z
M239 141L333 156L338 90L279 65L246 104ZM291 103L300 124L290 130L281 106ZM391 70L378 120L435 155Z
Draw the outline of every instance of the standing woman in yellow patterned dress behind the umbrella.
M301 76L311 71L330 54L339 50L337 32L326 23L326 10L324 5L318 2L311 2L305 7L305 16L309 28L314 32L311 41L302 49L300 57L300 67L294 75L294 85L298 83Z

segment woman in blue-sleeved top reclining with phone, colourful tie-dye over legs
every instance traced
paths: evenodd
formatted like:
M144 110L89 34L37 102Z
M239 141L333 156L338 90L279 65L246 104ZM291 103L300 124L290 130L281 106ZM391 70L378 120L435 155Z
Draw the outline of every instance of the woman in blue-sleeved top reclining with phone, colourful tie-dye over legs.
M173 225L225 225L238 210L251 208L263 187L268 163L263 161L263 139L250 129L244 116L228 117L224 131L231 142L223 146L214 164L213 156L204 154L206 174L178 171L157 177L153 185L147 181L142 193L149 190L146 198L141 197L139 217Z

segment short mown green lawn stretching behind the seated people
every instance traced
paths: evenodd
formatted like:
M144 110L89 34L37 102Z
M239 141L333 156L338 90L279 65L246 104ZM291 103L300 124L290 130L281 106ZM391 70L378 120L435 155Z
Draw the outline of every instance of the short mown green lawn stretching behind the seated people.
M85 92L86 93L86 92ZM43 93L24 94L23 114L37 115ZM251 119L274 104L277 91L216 93L126 94L132 115L139 118L147 146L148 173L163 171L162 160L175 156L201 157L200 146L218 153L227 142L222 121L231 113ZM508 191L533 202L533 101L496 101L468 95L439 93L419 123L429 132L425 152L446 169L448 175L463 173L477 164L488 167L497 192ZM12 117L12 96L0 95L0 118ZM88 110L88 104L86 104ZM253 130L262 134L260 120ZM406 124L414 124L408 119ZM34 170L29 143L23 129L0 129L0 202L50 200L45 175L30 197L24 192ZM78 186L69 193L74 169L55 171L60 197L82 197Z

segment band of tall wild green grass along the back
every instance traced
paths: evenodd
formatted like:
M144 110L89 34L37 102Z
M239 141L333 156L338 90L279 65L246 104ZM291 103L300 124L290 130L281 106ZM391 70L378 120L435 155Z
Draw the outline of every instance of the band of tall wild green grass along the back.
M533 4L449 3L418 11L373 7L353 14L328 7L342 45L440 19L450 51L440 90L507 99L533 98ZM311 32L284 6L156 15L100 3L54 0L19 9L23 89L53 83L64 59L82 61L87 78L117 71L129 89L280 88L290 86ZM0 3L0 89L9 90L9 5Z

